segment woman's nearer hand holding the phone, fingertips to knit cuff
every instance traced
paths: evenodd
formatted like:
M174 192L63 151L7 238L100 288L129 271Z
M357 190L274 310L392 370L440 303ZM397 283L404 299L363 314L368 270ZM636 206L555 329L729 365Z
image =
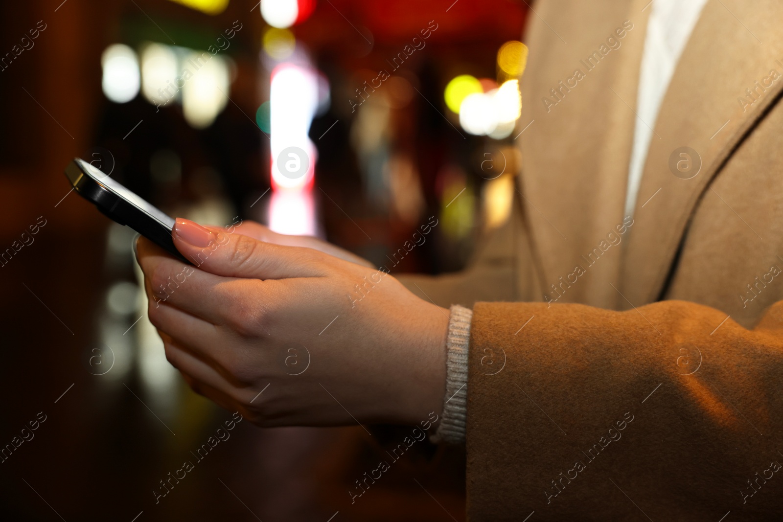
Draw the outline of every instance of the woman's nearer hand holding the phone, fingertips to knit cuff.
M448 310L384 272L245 230L177 219L194 266L139 239L150 321L194 391L263 426L440 415Z

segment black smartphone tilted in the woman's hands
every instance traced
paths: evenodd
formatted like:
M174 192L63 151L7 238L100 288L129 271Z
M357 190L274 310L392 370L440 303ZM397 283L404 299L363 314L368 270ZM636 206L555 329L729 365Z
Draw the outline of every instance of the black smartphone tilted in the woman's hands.
M131 227L172 256L190 264L171 239L171 230L175 225L173 218L85 160L74 158L65 168L65 175L74 190L107 217L120 225Z

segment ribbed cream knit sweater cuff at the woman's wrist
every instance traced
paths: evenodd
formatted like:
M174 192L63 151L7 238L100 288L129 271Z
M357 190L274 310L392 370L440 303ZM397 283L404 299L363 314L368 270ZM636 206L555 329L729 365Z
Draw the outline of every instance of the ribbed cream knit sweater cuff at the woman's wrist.
M454 304L446 337L446 397L443 416L431 441L465 444L467 419L467 345L471 339L473 311Z

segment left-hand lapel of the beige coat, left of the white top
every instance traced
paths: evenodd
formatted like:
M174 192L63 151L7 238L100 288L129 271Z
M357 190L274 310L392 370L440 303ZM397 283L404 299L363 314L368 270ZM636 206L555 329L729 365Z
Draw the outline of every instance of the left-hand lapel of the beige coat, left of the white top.
M538 2L530 15L518 189L547 301L618 305L622 243L612 238L623 221L648 2Z

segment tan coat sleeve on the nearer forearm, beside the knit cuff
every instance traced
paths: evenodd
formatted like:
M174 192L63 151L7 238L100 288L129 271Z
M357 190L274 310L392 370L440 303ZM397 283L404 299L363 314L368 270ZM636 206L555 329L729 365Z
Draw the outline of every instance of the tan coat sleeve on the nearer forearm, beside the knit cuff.
M781 376L783 301L754 329L684 301L477 303L468 518L770 520Z

